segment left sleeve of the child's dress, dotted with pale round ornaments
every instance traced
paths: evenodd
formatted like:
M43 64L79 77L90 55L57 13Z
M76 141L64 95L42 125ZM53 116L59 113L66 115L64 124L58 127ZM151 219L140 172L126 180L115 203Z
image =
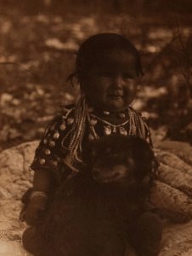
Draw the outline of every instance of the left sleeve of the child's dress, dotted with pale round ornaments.
M67 154L67 147L62 145L63 138L67 136L73 124L73 108L63 109L48 125L39 143L31 169L48 169L51 172L62 172L63 159Z

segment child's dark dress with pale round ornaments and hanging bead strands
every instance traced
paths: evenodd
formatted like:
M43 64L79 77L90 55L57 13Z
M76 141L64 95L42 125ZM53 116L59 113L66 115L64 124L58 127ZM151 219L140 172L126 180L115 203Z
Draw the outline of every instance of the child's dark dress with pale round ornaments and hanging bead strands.
M133 108L127 107L118 113L121 119L118 125L107 120L109 115L109 112L105 112L106 118L103 118L93 108L88 108L84 97L80 98L76 106L62 109L48 125L37 147L31 169L48 169L58 178L65 172L66 166L78 172L83 165L83 146L90 140L112 133L142 137L151 143L148 126Z

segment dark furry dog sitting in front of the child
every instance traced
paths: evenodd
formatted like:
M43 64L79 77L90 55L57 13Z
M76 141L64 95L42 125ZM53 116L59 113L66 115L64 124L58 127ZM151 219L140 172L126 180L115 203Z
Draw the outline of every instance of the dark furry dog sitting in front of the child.
M88 165L61 184L36 227L35 255L123 256L127 243L139 256L157 255L162 225L148 209L156 165L150 145L111 135L83 152Z

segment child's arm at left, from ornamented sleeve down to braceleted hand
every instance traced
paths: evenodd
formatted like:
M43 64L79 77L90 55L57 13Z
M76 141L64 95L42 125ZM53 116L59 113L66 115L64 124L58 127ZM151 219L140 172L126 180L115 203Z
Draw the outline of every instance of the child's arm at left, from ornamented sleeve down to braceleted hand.
M20 213L20 218L28 224L36 223L52 200L58 183L71 172L63 163L67 150L63 147L62 140L71 129L72 123L68 119L72 118L71 110L66 109L59 113L48 125L36 149L31 164L31 170L35 172L33 187L29 193L25 193L26 200L22 200L25 206Z

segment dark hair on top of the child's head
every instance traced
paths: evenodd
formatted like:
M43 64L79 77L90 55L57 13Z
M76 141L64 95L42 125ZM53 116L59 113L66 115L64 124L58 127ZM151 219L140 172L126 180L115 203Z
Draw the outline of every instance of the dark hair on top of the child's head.
M97 67L102 56L111 49L122 49L133 55L136 63L138 76L143 75L138 50L125 37L116 33L99 33L85 40L76 54L76 70L68 77L71 81L74 77L81 80L83 74L88 72L90 67Z

